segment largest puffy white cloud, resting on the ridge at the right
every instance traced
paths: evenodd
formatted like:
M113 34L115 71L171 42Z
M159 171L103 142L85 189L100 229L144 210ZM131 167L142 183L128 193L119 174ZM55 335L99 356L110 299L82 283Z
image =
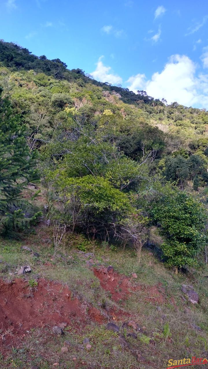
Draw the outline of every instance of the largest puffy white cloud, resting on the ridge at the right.
M128 79L128 89L145 90L155 99L166 99L168 104L177 101L185 106L208 108L208 75L196 75L195 63L185 55L172 55L161 73L150 80L145 75Z

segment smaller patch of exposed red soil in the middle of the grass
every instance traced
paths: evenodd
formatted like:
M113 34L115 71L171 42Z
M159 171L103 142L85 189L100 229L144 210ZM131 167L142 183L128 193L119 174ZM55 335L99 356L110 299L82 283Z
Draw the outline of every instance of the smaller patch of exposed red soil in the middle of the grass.
M109 291L111 299L114 301L126 300L132 293L138 294L141 300L151 303L163 304L166 302L165 290L161 283L156 286L144 286L137 284L132 286L131 279L106 268L94 268L94 275L100 280L100 284L105 291Z

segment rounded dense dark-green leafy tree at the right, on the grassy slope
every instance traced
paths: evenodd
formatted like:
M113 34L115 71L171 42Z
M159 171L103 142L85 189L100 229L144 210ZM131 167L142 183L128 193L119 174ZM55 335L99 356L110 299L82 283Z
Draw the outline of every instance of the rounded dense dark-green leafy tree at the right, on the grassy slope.
M168 184L152 200L151 218L164 237L162 253L168 266L194 266L197 254L205 244L206 215L192 196L172 189Z

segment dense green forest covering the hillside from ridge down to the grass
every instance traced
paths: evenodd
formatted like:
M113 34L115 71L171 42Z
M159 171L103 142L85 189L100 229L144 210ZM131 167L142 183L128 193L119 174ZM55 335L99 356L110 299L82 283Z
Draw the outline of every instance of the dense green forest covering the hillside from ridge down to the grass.
M10 132L11 120L16 121L13 135L8 133L13 149L16 135L24 136L31 166L33 157L38 158L34 160L48 189L51 218L70 231L130 243L138 253L156 227L167 265L193 266L199 255L202 261L207 237L206 110L168 105L165 97L160 101L145 91L135 94L97 82L81 69L68 70L58 58L38 57L4 41L0 86L1 129L6 124L4 132ZM6 123L5 101L11 107ZM1 135L0 140L3 145ZM4 159L8 153L9 141ZM16 163L21 167L18 155ZM30 180L27 171L23 177ZM0 186L4 195L4 179ZM14 210L11 203L16 203L15 196L9 208L1 207L2 219L9 213L17 220L20 209L23 216L22 207L15 205ZM8 224L3 222L2 228L5 232Z

